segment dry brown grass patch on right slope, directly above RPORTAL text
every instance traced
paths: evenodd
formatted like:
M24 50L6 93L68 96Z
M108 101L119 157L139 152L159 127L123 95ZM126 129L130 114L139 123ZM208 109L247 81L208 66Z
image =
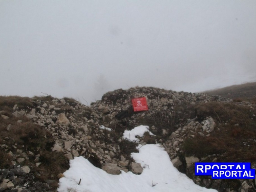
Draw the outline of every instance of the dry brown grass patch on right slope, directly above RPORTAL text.
M255 109L234 103L200 103L195 106L197 116L203 120L211 116L220 131L209 137L196 136L184 141L183 150L187 156L199 158L219 154L219 162L255 162L256 158L256 114Z

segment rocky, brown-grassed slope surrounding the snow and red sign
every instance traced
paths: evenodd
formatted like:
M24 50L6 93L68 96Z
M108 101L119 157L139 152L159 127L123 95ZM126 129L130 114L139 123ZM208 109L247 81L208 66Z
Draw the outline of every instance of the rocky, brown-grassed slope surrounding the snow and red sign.
M133 112L131 99L141 96L149 110ZM145 134L140 143L161 143L195 183L218 191L256 190L252 180L194 176L199 161L256 167L256 112L250 102L142 87L106 93L90 107L70 98L1 97L0 113L0 191L54 191L67 159L77 156L110 174L121 169L140 174L143 169L130 157L137 144L122 139L122 133L141 124L156 136Z

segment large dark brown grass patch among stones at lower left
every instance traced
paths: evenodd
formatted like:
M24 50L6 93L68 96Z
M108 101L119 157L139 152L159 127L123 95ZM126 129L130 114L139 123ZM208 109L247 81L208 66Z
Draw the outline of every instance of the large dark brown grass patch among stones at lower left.
M17 120L23 122L18 123ZM11 124L10 131L7 126ZM65 172L69 168L69 160L60 152L52 152L51 148L54 140L49 131L45 127L40 127L31 122L26 117L10 117L10 119L1 119L0 122L0 145L6 144L6 148L0 149L0 168L8 168L11 161L15 160L8 153L11 151L15 155L16 149L23 152L31 151L33 154L40 154L39 160L42 163L39 167L35 166L34 156L29 155L29 159L24 163L29 165L31 173L35 177L45 182L46 180L54 180L50 184L52 190L58 187L57 175ZM12 148L12 146L16 148ZM38 174L39 173L39 174Z

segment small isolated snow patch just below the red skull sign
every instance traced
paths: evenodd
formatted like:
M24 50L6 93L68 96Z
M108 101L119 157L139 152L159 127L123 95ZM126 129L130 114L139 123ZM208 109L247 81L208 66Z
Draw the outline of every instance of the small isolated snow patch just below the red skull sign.
M140 125L136 126L133 130L127 131L125 130L123 133L123 138L127 138L130 141L139 141L139 139L136 138L136 136L142 137L145 132L149 132L150 135L154 135L150 131L148 131L149 127Z

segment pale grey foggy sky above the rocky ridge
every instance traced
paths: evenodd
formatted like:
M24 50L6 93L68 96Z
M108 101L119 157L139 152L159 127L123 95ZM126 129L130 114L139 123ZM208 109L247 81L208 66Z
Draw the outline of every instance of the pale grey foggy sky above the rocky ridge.
M255 81L255 10L254 0L0 0L0 95L90 104L120 88Z

